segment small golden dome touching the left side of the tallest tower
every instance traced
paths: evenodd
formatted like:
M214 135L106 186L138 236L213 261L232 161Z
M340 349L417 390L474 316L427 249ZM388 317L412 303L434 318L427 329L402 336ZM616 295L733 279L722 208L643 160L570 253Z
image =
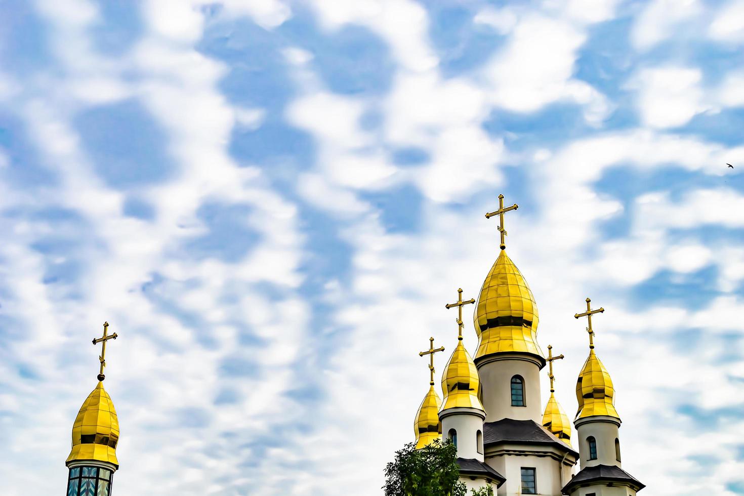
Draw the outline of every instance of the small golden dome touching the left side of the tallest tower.
M460 338L442 376L442 393L444 394L442 410L458 407L483 410L481 400L478 399L480 384L478 369L475 368Z

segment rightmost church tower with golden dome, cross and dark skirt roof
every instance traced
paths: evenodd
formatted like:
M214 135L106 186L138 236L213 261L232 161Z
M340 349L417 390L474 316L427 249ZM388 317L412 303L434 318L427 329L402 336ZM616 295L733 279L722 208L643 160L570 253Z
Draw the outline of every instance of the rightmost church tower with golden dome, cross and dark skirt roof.
M564 488L571 496L635 496L645 486L622 468L620 462L620 416L615 410L615 387L612 378L594 352L594 330L591 316L604 312L592 310L586 298L586 312L575 318L589 319L589 357L576 383L579 410L574 425L579 439L578 474Z

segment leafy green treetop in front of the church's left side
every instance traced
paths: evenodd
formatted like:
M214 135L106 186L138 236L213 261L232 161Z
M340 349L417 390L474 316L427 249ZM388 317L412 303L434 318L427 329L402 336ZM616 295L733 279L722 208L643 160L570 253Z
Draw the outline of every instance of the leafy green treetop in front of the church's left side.
M409 442L385 467L385 496L466 496L460 482L458 450L439 439L416 450Z

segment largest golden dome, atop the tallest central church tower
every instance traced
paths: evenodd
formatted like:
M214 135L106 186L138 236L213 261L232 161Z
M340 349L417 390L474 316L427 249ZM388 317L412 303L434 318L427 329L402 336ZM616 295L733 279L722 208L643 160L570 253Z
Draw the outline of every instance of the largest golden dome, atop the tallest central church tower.
M530 286L501 250L478 295L473 323L480 342L475 358L498 352L527 352L542 358L538 320Z

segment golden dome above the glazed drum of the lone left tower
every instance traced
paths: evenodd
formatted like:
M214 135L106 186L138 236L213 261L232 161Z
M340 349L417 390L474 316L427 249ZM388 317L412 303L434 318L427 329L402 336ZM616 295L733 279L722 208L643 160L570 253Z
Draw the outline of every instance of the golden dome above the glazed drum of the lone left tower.
M109 393L99 381L80 407L72 426L72 451L67 463L76 460L97 460L119 467L116 444L119 441L119 420Z

